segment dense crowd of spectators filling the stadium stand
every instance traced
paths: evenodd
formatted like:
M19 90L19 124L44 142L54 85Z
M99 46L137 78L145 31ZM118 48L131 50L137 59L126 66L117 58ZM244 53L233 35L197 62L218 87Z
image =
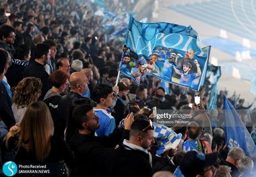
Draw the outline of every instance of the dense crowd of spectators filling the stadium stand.
M100 2L1 1L1 165L47 164L45 176L255 176L256 157L225 142L227 91L207 109L210 85L189 106L192 90L117 78L125 34L102 8L125 26L136 1ZM229 100L256 143L255 112ZM166 127L155 107L192 116Z

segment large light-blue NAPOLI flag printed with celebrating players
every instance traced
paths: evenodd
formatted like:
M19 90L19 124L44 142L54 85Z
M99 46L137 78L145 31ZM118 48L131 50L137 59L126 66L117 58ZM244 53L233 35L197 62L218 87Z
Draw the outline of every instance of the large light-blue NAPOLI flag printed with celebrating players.
M130 16L120 71L137 84L151 75L192 90L199 90L207 53L191 26L141 23Z

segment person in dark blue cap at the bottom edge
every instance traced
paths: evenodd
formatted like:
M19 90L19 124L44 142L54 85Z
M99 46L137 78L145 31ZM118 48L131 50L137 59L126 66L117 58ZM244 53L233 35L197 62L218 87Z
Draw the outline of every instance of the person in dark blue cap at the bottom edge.
M197 151L188 151L185 153L179 169L185 177L213 177L216 174L217 153L198 153ZM175 175L175 172L174 172Z

